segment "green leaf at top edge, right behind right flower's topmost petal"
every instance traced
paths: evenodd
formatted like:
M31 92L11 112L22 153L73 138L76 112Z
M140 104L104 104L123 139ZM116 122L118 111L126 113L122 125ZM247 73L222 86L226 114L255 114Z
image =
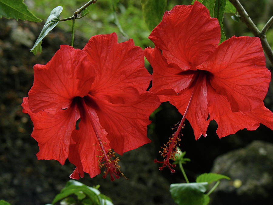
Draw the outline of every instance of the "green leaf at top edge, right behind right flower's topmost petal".
M223 31L223 15L225 12L226 7L226 0L197 0L198 2L202 3L210 12L210 16L212 18L217 18L220 29L221 29L221 39L220 43L222 43L226 36ZM194 1L192 2L194 4Z

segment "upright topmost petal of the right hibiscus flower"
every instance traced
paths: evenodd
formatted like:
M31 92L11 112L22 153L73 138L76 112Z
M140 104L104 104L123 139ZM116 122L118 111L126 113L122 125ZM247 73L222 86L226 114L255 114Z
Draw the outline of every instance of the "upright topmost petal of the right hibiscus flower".
M194 5L177 5L165 12L149 39L162 50L168 63L196 70L194 66L215 51L220 36L218 20L211 18L207 8L195 1Z

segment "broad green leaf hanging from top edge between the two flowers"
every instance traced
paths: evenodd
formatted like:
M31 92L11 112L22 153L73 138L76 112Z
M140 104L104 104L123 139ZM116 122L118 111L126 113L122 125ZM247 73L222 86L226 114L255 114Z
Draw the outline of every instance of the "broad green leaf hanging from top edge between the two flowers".
M166 5L167 0L141 0L144 20L150 31L162 20Z

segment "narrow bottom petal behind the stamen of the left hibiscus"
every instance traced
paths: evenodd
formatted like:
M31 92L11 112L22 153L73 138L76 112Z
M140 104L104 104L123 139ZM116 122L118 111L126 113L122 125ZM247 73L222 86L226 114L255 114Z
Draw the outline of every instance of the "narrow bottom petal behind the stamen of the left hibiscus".
M111 149L109 141L106 139L107 132L99 124L96 112L85 107L85 116L81 116L79 123L79 130L72 132L72 139L76 144L69 145L69 162L76 166L76 169L71 174L70 178L79 179L83 177L84 173L89 173L90 177L94 177L100 173L99 169L99 155L101 155L101 148L99 143L105 142L105 150ZM93 128L93 125L95 128ZM99 142L96 133L101 139Z

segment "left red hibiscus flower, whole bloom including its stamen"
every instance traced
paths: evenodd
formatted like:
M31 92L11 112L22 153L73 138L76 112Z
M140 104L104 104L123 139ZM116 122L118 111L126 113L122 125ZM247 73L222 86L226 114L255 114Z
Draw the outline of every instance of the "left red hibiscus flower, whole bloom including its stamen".
M76 166L73 179L84 172L94 177L103 167L103 178L119 178L111 149L122 155L150 142L148 118L160 104L146 91L150 80L143 51L132 39L117 43L112 33L93 36L83 50L61 45L46 65L34 66L33 86L23 98L37 158L63 165L68 157Z

